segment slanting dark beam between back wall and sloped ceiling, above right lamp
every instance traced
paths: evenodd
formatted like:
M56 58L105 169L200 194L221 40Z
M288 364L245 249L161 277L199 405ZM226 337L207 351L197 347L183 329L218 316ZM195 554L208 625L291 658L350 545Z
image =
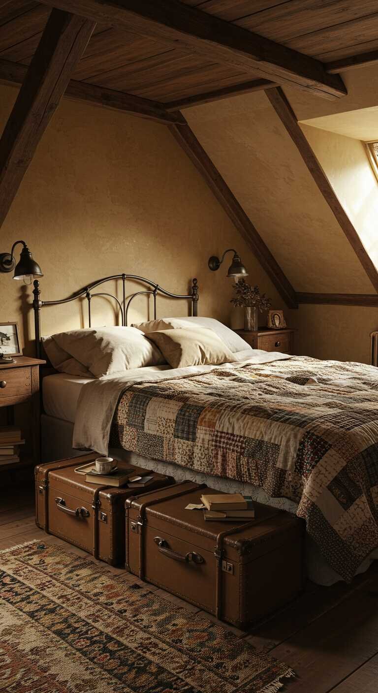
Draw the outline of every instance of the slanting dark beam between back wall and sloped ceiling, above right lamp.
M191 128L189 128L189 125L169 125L168 127L185 154L187 154L194 166L196 166L196 169L221 204L221 207L225 210L227 216L238 229L241 236L243 236L244 240L246 240L246 243L257 257L261 267L263 267L268 277L270 277L273 284L280 292L286 305L289 306L289 308L298 308L295 291L291 283L286 279L280 265L275 261L275 258L265 245L259 232L255 229L250 218L246 215L246 212L243 210L234 194L230 191L227 183L198 142L196 135Z

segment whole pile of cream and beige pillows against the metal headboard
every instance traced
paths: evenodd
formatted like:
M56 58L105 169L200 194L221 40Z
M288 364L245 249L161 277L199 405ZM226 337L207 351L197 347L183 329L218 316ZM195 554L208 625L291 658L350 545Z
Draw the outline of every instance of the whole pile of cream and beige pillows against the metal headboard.
M172 368L239 360L247 342L210 317L162 318L132 327L87 328L43 337L51 365L85 378L168 363Z

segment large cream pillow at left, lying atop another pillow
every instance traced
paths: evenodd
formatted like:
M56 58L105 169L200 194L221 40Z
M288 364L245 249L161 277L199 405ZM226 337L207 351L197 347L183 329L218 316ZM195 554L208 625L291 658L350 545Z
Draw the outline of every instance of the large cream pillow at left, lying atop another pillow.
M155 344L134 327L72 330L53 335L53 340L96 378L166 362Z

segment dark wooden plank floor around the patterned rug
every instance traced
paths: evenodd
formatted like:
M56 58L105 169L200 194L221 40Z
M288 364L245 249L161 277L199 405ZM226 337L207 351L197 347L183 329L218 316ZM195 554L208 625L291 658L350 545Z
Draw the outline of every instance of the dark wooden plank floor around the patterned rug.
M7 489L0 500L0 550L33 539L88 556L35 526L34 490L30 486ZM137 581L121 568L94 562L118 579ZM151 585L148 589L216 622L212 615L164 590ZM378 561L352 585L322 588L309 583L295 602L248 633L218 624L293 667L297 676L284 687L289 693L378 693Z

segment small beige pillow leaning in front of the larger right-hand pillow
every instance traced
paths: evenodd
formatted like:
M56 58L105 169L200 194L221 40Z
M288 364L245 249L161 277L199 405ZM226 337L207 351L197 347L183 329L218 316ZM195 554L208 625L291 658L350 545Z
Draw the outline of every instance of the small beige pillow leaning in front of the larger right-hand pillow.
M148 333L172 366L201 366L234 362L234 354L212 330L204 327L177 328Z

